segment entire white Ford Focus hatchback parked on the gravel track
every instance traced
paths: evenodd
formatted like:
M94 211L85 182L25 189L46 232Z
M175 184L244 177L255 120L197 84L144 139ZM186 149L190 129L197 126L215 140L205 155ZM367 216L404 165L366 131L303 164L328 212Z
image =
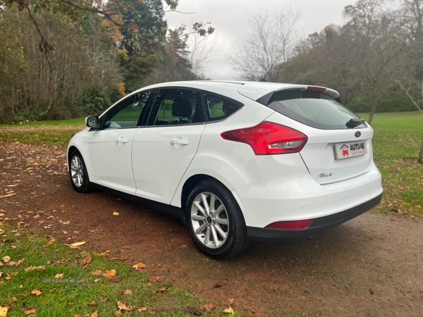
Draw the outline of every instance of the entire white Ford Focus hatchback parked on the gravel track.
M309 237L379 204L374 131L323 87L166 82L124 97L68 145L73 188L176 216L223 259Z

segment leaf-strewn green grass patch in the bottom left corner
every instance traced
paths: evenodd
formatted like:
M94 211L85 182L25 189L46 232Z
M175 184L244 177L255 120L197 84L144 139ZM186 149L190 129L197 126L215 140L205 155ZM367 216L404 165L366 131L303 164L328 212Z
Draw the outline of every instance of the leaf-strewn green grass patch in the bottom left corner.
M1 313L6 306L8 317L115 316L119 309L125 316L192 316L190 310L209 304L173 287L166 275L150 278L143 268L136 271L107 254L87 254L52 239L0 223L0 316L6 316ZM82 264L88 256L91 261ZM216 314L225 315L217 307L203 316Z

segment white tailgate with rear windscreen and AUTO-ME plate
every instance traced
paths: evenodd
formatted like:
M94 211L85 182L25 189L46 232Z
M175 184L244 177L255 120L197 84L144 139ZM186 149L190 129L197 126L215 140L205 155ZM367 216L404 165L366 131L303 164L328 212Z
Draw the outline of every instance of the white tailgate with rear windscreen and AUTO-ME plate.
M268 106L297 121L290 128L307 135L300 155L319 184L346 180L369 170L372 128L367 123L350 125L348 122L358 117L329 95L308 90L276 92ZM268 120L283 124L278 114Z

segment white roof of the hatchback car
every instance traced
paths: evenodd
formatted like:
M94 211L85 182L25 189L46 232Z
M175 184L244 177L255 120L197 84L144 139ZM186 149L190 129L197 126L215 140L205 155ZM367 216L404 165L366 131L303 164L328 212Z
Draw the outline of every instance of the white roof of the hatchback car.
M231 92L231 94L243 95L252 100L258 100L266 95L278 92L281 90L305 90L307 87L319 87L314 85L295 85L281 82L248 82L248 81L231 81L231 80L191 80L180 82L162 82L160 84L143 87L133 92L141 92L147 89L161 88L161 87L190 87L194 89L203 89L216 94L224 94L223 92ZM333 98L338 98L339 94L336 90L326 88L325 94Z

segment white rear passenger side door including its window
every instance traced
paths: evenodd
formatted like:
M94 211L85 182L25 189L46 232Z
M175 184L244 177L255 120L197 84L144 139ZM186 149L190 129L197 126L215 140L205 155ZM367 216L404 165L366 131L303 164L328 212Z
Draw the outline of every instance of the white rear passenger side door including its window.
M147 122L133 138L137 196L170 204L197 152L203 130L200 92L160 89Z

